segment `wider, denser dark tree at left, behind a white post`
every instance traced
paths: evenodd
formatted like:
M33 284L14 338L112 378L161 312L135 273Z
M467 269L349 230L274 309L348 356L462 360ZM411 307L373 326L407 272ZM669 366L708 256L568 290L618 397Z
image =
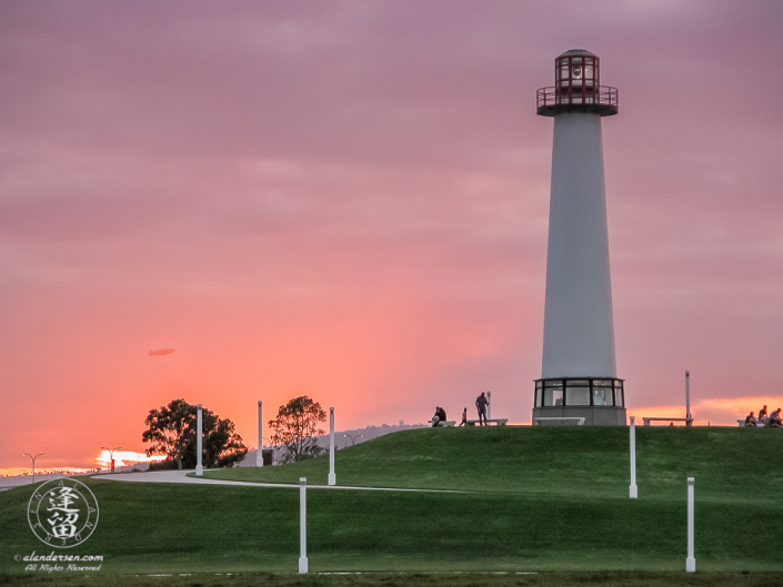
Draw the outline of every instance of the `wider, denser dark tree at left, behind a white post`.
M248 447L237 434L233 422L221 419L202 406L202 464L207 468L231 466L244 458ZM150 409L141 439L151 443L147 455L164 454L170 468L195 468L198 406L172 399L168 406ZM164 462L165 463L165 462ZM165 467L165 466L164 466Z

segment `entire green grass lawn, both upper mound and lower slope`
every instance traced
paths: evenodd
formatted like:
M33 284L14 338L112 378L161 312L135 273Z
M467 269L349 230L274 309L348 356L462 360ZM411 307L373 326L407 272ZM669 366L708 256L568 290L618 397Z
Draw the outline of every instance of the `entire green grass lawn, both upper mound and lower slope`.
M310 569L680 571L693 476L697 569L783 571L783 431L639 427L636 446L639 499L624 427L425 428L339 451L338 485L436 490L311 488ZM328 473L323 456L207 476L325 485ZM72 554L103 554L107 571L297 569L297 489L87 483L101 517ZM0 573L51 550L28 527L30 495L0 494Z

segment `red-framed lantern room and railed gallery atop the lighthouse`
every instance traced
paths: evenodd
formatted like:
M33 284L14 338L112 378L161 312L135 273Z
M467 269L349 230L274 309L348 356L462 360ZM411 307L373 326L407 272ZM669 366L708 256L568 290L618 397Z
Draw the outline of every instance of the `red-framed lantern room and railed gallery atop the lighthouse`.
M554 60L554 87L538 91L538 113L555 117L564 112L618 113L618 89L601 85L599 57L571 49Z

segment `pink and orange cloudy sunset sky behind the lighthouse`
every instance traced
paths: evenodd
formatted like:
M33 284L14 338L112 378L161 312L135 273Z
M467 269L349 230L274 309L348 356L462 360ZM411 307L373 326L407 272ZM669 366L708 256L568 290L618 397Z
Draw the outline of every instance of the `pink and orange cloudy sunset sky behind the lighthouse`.
M552 120L586 49L629 415L783 405L783 2L0 3L0 472L183 397L339 429L541 375ZM169 354L150 351L173 348Z

